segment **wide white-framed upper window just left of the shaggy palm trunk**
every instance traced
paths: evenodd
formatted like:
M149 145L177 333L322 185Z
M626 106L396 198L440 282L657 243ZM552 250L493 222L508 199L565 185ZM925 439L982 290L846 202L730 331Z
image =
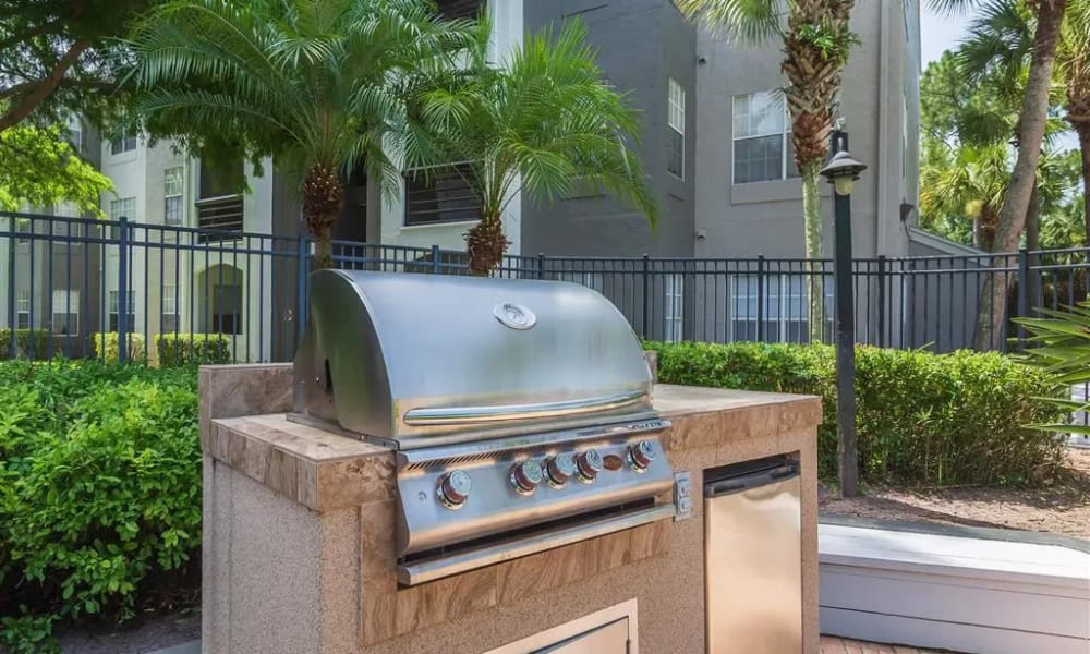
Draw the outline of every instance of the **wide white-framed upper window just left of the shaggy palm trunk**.
M734 99L736 184L799 177L784 96L762 92Z

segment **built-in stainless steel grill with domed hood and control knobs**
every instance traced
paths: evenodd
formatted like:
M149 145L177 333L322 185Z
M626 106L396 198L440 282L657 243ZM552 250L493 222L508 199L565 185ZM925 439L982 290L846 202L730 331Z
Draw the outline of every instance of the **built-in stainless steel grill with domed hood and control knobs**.
M320 270L292 420L398 450L404 584L674 516L651 373L571 283Z

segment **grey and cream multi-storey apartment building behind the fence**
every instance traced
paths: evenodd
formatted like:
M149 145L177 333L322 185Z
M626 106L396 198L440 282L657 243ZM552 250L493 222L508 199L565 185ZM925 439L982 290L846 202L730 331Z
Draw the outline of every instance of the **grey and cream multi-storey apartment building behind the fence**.
M802 256L802 191L777 94L784 84L778 44L728 41L687 21L670 0L444 0L438 5L448 16L474 15L486 7L499 62L526 32L578 17L608 82L629 93L641 111L640 152L662 205L658 228L652 231L644 216L605 195L552 204L520 197L502 217L511 253L647 254L676 261ZM852 154L870 166L852 197L855 252L864 257L904 255L910 247L920 252L933 243L916 243L911 235L918 193L919 0L858 2L851 24L862 44L845 72L839 113ZM104 211L143 226L125 233L134 246L125 250L124 261L121 249L111 245L60 256L57 249L63 245L21 242L8 249L12 252L0 252L0 278L8 269L26 271L16 274L16 287L23 283L19 280L49 277L44 262L50 253L55 262L75 262L87 271L78 289L64 287L57 270L49 283L36 283L34 293L29 286L12 287L10 301L0 302L2 324L57 325L75 317L75 331L89 334L116 330L124 320L149 339L175 330L228 334L239 359L290 355L299 329L294 255L303 229L298 178L270 162L265 177L251 177L241 161L202 161L170 143L147 144L131 135L83 147L117 186L116 194L102 198ZM424 181L408 171L393 196L392 202L384 198L377 184L355 174L335 238L464 249L463 234L479 214L458 174ZM831 215L825 189L823 197L823 211ZM210 238L194 228L225 234ZM827 220L826 244L831 229ZM9 265L13 257L14 267ZM606 293L628 313L650 316L642 327L655 338L692 338L699 331L730 340L761 331L775 340L807 331L798 276L734 275L710 284L692 266L664 265L652 275L649 306L622 276L573 266L558 277ZM62 304L77 311L57 316L61 322L45 315Z

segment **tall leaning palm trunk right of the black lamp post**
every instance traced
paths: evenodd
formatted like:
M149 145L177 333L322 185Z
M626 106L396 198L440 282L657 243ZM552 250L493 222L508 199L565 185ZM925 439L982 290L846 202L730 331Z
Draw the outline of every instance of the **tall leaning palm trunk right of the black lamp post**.
M1029 64L1026 82L1026 97L1022 100L1018 129L1018 159L1015 161L1010 185L1003 197L1003 208L996 228L993 247L995 252L1014 252L1026 222L1030 195L1037 180L1037 165L1041 158L1041 142L1049 117L1049 87L1056 63L1056 46L1059 43L1059 27L1067 9L1067 0L1037 0L1037 32L1033 34L1033 56ZM977 322L976 348L978 350L1001 349L1003 320L1009 276L993 272L984 279L980 291L980 315ZM991 315L985 315L984 312Z

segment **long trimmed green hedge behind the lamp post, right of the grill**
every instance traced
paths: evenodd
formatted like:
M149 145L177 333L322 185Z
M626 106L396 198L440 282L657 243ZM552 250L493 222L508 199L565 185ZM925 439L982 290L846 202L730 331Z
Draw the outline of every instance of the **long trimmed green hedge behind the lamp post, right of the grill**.
M816 395L819 473L836 476L836 359L827 346L646 343L659 380ZM1022 425L1062 411L1037 399L1040 371L997 353L856 349L860 475L927 485L1032 485L1059 463L1063 445Z

